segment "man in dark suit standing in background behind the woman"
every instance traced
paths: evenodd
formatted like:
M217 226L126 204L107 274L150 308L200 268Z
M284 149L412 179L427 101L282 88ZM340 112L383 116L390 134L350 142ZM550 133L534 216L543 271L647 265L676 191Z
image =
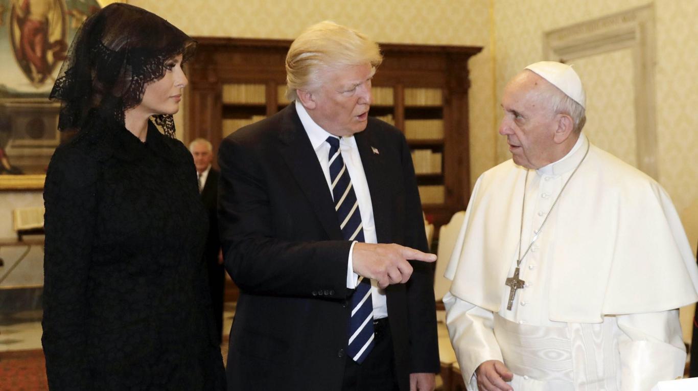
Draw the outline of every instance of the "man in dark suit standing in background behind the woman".
M204 249L204 262L209 270L209 287L211 304L218 330L218 343L223 336L223 286L225 286L225 268L221 240L218 238L218 170L211 166L213 147L204 138L197 138L189 144L189 152L194 157L196 175L199 182L201 200L209 214L209 236Z

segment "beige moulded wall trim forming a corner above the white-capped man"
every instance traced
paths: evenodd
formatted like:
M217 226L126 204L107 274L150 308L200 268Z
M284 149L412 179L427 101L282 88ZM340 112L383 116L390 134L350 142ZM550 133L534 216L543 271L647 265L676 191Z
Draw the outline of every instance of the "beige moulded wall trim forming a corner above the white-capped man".
M554 61L570 62L595 54L631 50L637 164L640 170L658 179L655 42L655 11L650 3L548 31L543 37L543 55Z

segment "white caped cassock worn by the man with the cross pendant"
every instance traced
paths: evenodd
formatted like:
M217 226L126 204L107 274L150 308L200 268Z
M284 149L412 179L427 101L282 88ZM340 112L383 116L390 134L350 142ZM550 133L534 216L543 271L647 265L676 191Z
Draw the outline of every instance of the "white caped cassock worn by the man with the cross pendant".
M644 173L590 145L530 170L506 161L475 184L445 276L451 342L468 390L484 361L501 360L515 391L650 390L683 375L678 307L698 300L698 269L669 196Z

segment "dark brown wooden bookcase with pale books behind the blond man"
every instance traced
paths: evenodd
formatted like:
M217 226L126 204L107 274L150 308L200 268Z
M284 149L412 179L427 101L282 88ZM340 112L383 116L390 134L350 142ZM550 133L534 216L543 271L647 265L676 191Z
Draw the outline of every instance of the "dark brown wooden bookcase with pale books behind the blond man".
M217 151L225 135L288 105L284 64L291 41L196 39L196 58L187 65L185 138L207 138ZM424 213L438 235L470 196L468 59L482 48L380 47L385 59L373 78L369 115L406 133Z

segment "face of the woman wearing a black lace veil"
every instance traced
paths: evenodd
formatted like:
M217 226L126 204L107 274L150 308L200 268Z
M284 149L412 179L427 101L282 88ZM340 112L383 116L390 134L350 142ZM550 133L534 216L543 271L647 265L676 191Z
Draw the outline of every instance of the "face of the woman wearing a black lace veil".
M179 111L181 91L187 84L181 69L181 54L165 61L165 76L145 87L140 108L149 115L174 114Z

